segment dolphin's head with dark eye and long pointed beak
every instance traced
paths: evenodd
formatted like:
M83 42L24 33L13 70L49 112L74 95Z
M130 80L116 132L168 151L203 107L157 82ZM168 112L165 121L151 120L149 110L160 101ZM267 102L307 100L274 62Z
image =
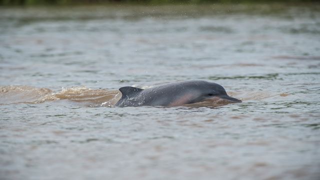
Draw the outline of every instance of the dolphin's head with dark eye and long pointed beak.
M193 92L196 94L194 102L210 100L215 97L227 99L232 102L241 102L241 100L228 96L225 89L217 83L207 81L193 81Z

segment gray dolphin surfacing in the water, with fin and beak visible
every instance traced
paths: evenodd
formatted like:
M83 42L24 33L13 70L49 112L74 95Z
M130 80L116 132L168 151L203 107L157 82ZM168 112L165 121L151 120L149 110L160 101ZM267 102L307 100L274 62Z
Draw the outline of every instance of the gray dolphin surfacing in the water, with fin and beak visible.
M214 82L190 80L164 84L148 89L125 86L119 88L122 96L115 104L126 106L179 106L220 97L232 102L241 100L230 97L224 88Z

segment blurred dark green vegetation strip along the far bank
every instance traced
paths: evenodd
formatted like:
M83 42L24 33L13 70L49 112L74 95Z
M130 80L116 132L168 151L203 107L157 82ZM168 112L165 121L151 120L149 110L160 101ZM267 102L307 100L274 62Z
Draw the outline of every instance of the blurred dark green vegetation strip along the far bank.
M269 3L319 2L319 0L0 0L0 5L73 5L73 4L201 4L201 3Z

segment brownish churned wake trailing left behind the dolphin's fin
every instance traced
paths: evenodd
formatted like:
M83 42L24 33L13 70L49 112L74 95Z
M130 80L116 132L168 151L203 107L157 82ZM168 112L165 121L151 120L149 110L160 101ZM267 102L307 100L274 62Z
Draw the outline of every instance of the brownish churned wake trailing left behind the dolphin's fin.
M91 89L87 87L62 88L53 92L48 88L27 85L0 86L0 104L42 103L67 99L88 106L112 106L117 100L118 90Z

